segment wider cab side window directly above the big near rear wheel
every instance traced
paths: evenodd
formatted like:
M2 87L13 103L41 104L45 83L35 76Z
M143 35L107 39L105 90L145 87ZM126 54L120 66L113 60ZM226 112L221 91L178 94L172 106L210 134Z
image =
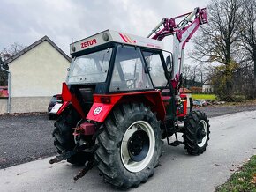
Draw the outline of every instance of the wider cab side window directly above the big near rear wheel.
M115 66L109 87L110 92L153 89L139 48L117 48Z

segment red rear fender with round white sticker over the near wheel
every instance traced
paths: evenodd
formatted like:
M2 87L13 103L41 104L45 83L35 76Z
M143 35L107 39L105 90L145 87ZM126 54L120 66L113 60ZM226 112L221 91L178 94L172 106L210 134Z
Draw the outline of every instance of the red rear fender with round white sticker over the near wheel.
M156 113L159 120L165 118L165 108L162 103L161 94L158 91L132 92L112 95L94 94L94 104L87 114L87 120L94 122L104 122L112 108L121 103L143 103Z

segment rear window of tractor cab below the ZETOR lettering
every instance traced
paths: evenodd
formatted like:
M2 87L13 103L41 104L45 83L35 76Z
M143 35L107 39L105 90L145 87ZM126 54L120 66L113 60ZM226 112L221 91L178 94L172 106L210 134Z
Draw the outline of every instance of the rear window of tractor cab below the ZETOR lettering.
M105 82L109 70L112 48L104 49L88 55L75 57L66 83L84 84Z

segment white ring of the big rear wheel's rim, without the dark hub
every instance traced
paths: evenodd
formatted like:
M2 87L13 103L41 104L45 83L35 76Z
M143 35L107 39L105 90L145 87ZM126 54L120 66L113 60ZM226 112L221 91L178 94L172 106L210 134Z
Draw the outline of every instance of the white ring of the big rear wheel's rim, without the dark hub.
M131 142L132 136L134 136L135 132L137 131L144 131L147 134L147 137L149 140L147 155L144 159L140 161L133 160L132 154L128 150L128 142ZM134 172L134 173L143 170L150 163L154 155L154 147L155 147L154 130L151 127L151 125L148 122L144 122L144 121L133 122L132 125L125 131L124 137L122 139L120 156L121 156L124 167L128 171Z

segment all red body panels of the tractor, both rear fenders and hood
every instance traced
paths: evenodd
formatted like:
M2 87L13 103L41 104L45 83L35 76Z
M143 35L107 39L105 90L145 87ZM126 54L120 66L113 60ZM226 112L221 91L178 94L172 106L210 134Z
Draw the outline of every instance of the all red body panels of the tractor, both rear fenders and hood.
M148 92L128 92L117 94L94 94L94 103L88 114L84 114L79 105L79 100L74 94L69 91L68 86L63 83L62 97L64 100L63 106L60 107L57 114L61 114L66 107L70 104L79 112L83 119L91 120L94 122L104 122L112 108L120 103L143 103L156 113L159 120L164 121L166 116L165 106L169 103L170 96L161 96L159 91ZM182 113L177 110L177 116L182 117L187 113L187 100L186 95L181 94L181 102L183 103Z

